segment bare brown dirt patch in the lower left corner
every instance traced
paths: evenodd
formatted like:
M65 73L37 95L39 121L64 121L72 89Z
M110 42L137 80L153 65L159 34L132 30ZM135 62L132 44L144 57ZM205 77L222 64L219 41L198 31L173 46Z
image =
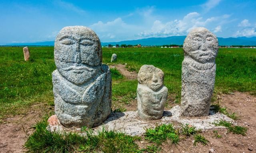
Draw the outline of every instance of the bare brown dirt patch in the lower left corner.
M36 121L51 109L46 104L35 104L28 109L27 114L7 118L0 124L0 153L25 152L23 145L34 131Z

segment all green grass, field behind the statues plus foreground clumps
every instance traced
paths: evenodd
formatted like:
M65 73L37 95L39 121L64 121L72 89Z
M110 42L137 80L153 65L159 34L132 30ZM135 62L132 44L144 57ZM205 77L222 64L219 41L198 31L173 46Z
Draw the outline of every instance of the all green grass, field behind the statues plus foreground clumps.
M26 113L32 104L44 103L54 105L51 73L56 69L53 47L29 47L30 61L25 62L22 47L0 47L0 123L11 115ZM110 63L112 53L118 55L115 63ZM164 71L164 83L168 94L180 101L181 48L103 48L103 63L112 65L127 63L131 71L137 71L144 64L154 65ZM256 49L220 48L216 58L216 82L214 95L219 93L250 92L256 94ZM116 69L112 75L112 103L121 104L125 111L126 104L136 97L137 80L120 77ZM212 98L216 100L216 98ZM119 104L120 105L120 104ZM217 105L219 106L219 105ZM226 108L219 106L219 112ZM209 141L199 134L194 127L183 125L174 129L171 124L161 125L155 129L146 129L144 137L131 137L116 131L99 131L92 135L86 129L87 136L76 133L56 133L46 130L48 116L35 125L35 132L30 135L25 147L28 152L136 152L156 153L162 149L162 142L177 145L182 137L194 135L194 145ZM225 123L228 130L237 134L246 133L247 128ZM180 133L180 132L181 133ZM221 135L220 135L221 136ZM147 141L149 145L139 147L136 142Z

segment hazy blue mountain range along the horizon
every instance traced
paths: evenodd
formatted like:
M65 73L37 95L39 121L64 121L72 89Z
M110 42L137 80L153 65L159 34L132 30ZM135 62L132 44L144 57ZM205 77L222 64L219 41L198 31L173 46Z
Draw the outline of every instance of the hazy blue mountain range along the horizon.
M171 36L171 37L151 37L145 39L138 39L138 40L127 40L127 41L119 41L119 42L102 42L101 45L105 46L108 44L111 45L182 45L186 36ZM229 37L229 38L222 38L218 37L219 45L256 45L256 37ZM54 41L44 41L44 42L36 42L36 43L10 43L7 45L40 45L40 46L53 46Z

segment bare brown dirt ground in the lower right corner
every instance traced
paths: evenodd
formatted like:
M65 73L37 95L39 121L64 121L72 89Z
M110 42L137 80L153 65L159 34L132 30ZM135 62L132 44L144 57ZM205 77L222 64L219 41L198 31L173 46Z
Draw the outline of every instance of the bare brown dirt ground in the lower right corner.
M229 112L235 112L239 116L238 126L248 128L246 136L227 133L227 129L217 129L221 138L214 137L213 130L202 133L210 142L208 145L193 146L193 137L184 139L177 147L166 145L163 149L170 153L209 153L213 148L215 153L256 153L256 97L249 93L234 92L221 96L221 106L226 106ZM248 150L248 147L253 149ZM162 153L165 153L162 151Z

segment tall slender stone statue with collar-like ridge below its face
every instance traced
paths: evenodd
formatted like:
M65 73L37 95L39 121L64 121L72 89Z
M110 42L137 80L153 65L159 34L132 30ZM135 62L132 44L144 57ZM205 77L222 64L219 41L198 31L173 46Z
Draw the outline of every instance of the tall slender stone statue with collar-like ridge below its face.
M182 62L181 108L184 116L208 116L214 90L218 39L198 27L188 33Z

